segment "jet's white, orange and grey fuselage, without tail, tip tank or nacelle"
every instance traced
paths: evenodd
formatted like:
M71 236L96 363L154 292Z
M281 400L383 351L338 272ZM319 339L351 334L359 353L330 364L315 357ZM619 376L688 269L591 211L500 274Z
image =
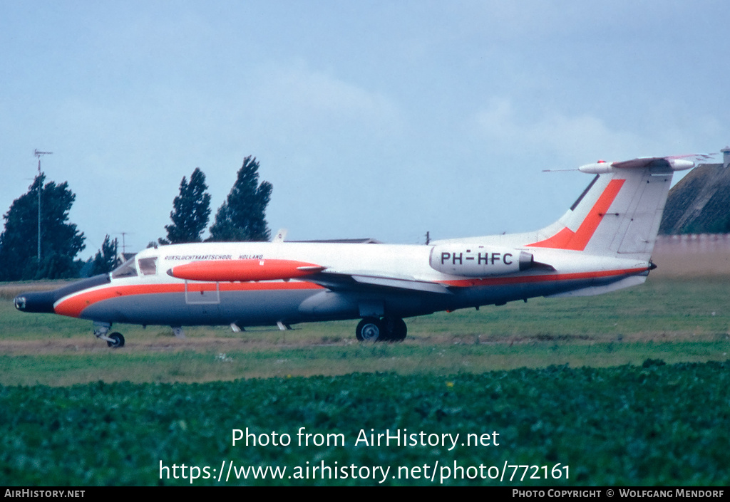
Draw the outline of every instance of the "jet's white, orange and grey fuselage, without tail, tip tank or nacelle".
M491 248L488 238L466 249ZM500 248L502 249L502 248ZM643 277L648 264L570 250L515 248L554 270L537 267L496 277L445 274L431 266L434 246L330 243L178 244L140 252L126 277L55 301L58 314L106 323L240 326L301 323L503 304L570 290L605 287ZM485 251L485 253L488 251ZM504 253L502 253L504 254ZM186 263L299 260L325 267L328 277L264 281L190 281L167 272ZM131 272L131 274L130 274ZM121 277L120 277L121 276ZM341 282L339 279L342 279ZM353 282L355 287L348 287Z

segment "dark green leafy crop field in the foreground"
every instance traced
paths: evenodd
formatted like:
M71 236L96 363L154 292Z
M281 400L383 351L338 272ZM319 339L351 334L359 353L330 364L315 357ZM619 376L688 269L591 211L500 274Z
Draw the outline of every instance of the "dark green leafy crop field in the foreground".
M729 368L0 387L0 484L727 485Z

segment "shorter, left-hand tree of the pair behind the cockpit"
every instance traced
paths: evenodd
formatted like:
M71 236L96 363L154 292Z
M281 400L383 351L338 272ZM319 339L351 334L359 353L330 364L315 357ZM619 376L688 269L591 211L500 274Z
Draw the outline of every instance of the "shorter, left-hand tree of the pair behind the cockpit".
M172 201L172 225L165 225L167 239L158 239L160 244L201 242L200 235L210 218L210 193L206 193L207 189L205 174L199 167L191 174L189 183L183 176L180 195Z

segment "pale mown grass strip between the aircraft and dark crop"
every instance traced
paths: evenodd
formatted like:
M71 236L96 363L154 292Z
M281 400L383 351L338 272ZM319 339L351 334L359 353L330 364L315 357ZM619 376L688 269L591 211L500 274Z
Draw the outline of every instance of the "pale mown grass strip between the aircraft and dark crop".
M728 298L726 277L650 279L604 296L536 298L413 318L400 344L359 344L355 321L304 324L293 331L188 328L185 339L174 338L167 327L116 325L127 340L120 350L95 339L87 321L23 314L7 299L0 300L0 384L209 382L354 371L453 374L636 365L647 358L726 360Z

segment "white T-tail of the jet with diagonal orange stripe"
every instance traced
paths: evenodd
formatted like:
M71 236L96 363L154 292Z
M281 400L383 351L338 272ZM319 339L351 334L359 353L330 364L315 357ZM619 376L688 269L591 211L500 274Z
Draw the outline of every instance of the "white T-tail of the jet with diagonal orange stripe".
M582 166L580 171L596 177L569 211L528 245L648 261L672 174L693 166L669 157Z

